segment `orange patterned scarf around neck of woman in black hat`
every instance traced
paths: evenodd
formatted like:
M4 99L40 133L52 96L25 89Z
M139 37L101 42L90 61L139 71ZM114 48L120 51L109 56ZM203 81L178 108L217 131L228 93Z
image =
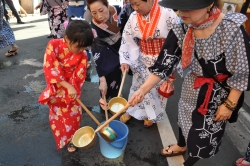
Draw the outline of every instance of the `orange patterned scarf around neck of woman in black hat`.
M192 55L194 51L194 32L193 29L204 29L209 27L214 23L214 21L220 16L220 10L217 7L213 7L209 13L209 17L204 20L199 25L191 25L187 33L185 35L185 38L183 40L183 46L182 46L182 68L185 69L188 67L192 61Z

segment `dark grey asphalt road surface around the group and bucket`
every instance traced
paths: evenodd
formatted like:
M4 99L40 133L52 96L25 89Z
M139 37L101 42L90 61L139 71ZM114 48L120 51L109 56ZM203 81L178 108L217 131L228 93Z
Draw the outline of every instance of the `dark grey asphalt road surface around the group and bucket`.
M37 102L46 86L42 63L49 41L46 38L49 34L47 18L29 15L23 21L26 24L16 24L15 18L10 22L19 46L18 55L5 57L9 48L0 50L0 166L178 166L171 160L180 158L167 160L159 156L159 151L166 142L175 143L175 137L178 137L177 105L182 82L179 77L175 82L175 95L169 99L166 108L171 124L167 127L174 135L171 132L159 133L158 125L145 129L142 121L132 119L127 124L127 147L124 154L116 159L108 159L100 153L98 139L89 150L80 150L74 154L69 154L66 148L57 151L49 126L48 108ZM128 96L130 83L131 76L127 76L123 88L125 98ZM100 122L104 121L104 112L100 112L98 106L98 76L93 62L82 94L81 101ZM81 126L97 127L85 112ZM233 128L238 130L237 126ZM167 131L164 128L162 130ZM196 166L230 166L237 158L242 157L244 151L239 151L235 146L238 138L232 140L228 132L220 152L211 159L199 161ZM249 140L249 133L246 136L244 134L246 133L241 136Z

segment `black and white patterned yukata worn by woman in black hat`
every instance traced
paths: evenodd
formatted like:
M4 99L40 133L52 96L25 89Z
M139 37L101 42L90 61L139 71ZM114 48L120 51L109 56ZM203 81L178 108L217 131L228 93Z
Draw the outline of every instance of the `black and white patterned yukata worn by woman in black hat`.
M214 156L221 144L225 126L228 121L217 121L217 108L227 98L228 93L218 83L212 84L213 90L205 115L198 112L203 103L208 85L194 89L197 76L210 77L227 74L229 77L221 82L228 88L246 91L250 88L250 46L248 36L242 27L246 17L239 13L226 14L215 32L208 38L195 39L193 59L184 77L181 98L178 105L178 124L185 137L191 157L209 158ZM176 68L182 73L181 49L184 39L181 23L173 25L162 51L154 66L149 70L167 80ZM186 28L187 29L187 28ZM201 68L201 65L202 68ZM208 73L208 74L207 74ZM243 98L241 98L242 103Z

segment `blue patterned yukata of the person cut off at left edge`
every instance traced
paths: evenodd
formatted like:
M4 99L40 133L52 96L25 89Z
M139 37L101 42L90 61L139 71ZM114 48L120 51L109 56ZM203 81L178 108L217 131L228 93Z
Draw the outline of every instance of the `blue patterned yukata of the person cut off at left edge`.
M0 0L0 48L15 44L15 36L9 24L3 19L4 8Z

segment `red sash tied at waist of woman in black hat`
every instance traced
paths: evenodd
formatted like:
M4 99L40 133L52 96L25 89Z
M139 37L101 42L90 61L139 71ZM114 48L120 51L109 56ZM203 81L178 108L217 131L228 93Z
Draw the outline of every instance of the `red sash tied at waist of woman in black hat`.
M228 78L228 75L226 74L218 74L215 76L215 79L217 79L219 82L223 82L225 79ZM208 103L213 91L213 84L215 83L215 80L213 78L207 78L207 77L196 77L194 80L194 89L197 89L201 87L204 84L208 84L208 89L206 92L206 96L204 99L204 102L202 105L198 108L198 112L200 112L202 115L206 115L208 110Z

